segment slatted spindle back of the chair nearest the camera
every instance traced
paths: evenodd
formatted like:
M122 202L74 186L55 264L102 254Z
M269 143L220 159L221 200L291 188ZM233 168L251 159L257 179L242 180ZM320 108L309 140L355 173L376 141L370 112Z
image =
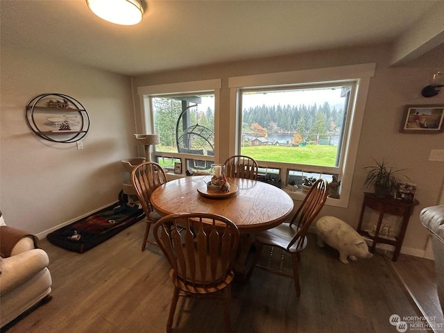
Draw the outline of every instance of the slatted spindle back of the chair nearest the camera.
M175 277L195 290L215 286L231 273L239 229L223 216L181 213L157 221L154 237Z

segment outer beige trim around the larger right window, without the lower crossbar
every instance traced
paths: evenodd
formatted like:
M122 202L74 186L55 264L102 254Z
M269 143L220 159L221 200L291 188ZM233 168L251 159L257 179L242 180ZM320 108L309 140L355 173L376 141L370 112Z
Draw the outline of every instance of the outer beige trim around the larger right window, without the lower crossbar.
M230 155L237 154L240 142L239 129L241 128L241 123L239 119L241 111L237 110L237 105L239 105L238 100L240 98L239 89L355 80L357 83L357 89L355 89L355 98L353 99L354 104L350 106L350 110L352 111L352 119L350 119L350 121L352 121L353 126L350 128L351 132L347 140L347 151L345 151L344 155L342 170L343 177L341 179L341 198L327 199L327 205L348 207L353 174L355 172L359 137L361 135L362 122L364 120L368 88L370 86L370 78L375 75L375 67L375 63L368 63L228 78L228 87L230 88ZM282 167L284 164L279 165ZM286 170L282 169L282 173L286 173ZM304 198L302 194L296 192L289 191L289 194L296 200L302 200L302 198Z

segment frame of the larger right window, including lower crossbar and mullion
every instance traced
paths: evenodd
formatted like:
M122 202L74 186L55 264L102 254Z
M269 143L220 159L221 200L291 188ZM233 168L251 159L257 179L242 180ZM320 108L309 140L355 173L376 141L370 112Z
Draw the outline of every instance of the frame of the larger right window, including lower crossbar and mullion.
M361 135L362 123L366 107L366 99L370 86L370 78L375 74L375 63L349 65L341 67L326 67L321 69L305 69L301 71L287 71L271 74L258 74L250 76L236 76L228 78L230 89L230 155L239 154L241 143L241 90L289 87L291 85L329 85L341 83L354 83L350 92L348 107L348 126L345 128L343 147L343 164L339 166L341 174L341 198L327 199L327 205L348 207L350 201L353 174ZM344 145L345 144L345 145ZM280 169L282 184L287 184L289 170L298 170L300 166L305 171L332 173L332 167L309 166L305 164L288 164L280 162L262 162L260 167ZM305 195L289 191L293 199L302 200Z

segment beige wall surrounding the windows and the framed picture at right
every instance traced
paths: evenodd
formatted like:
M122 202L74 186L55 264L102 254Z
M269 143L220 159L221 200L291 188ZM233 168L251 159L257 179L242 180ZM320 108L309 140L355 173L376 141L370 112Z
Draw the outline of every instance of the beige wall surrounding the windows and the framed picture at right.
M438 67L438 62L426 62L424 59L410 62L402 67L389 67L390 51L388 45L375 45L163 71L134 78L134 87L137 94L137 87L146 85L221 78L221 126L228 128L230 123L228 78L231 76L375 62L377 66L375 76L370 80L350 204L347 209L327 206L321 214L338 216L357 227L362 193L365 190L362 187L366 176L363 168L373 163L372 157L377 160L386 157L395 167L409 169L406 172L407 176L418 185L417 198L420 200L420 205L416 207L410 219L403 252L422 256L427 232L420 224L419 212L422 207L438 203L444 180L444 163L429 162L427 157L432 148L444 149L444 134L407 135L399 133L398 129L404 105L444 103L444 92L432 99L420 96L420 90L429 84L432 74L443 68ZM432 56L427 57L427 60L430 59L441 59L441 57L432 53ZM136 94L134 98L139 124L140 105L139 96ZM139 126L138 130L140 129ZM228 157L228 148L221 146L221 160Z

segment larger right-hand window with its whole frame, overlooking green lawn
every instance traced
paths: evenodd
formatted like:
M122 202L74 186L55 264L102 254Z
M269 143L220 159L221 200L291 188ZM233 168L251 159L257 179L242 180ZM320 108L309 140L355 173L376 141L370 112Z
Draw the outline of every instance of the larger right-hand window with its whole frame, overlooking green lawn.
M282 187L302 185L309 177L341 180L341 197L329 202L347 207L374 67L230 78L232 153L255 158L260 177Z

